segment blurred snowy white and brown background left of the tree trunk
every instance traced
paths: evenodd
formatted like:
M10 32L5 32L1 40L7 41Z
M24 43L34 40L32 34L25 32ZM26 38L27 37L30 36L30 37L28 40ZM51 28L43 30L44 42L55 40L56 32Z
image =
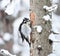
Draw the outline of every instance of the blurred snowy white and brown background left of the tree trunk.
M29 9L29 0L0 0L0 49L6 49L17 56L29 56L29 46L24 43L25 47L19 45L17 32L21 19L29 18Z

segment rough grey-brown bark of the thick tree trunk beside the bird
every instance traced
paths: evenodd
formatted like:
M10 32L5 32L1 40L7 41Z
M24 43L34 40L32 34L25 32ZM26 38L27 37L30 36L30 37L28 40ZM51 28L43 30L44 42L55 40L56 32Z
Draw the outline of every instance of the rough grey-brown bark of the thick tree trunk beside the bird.
M31 56L47 56L51 53L51 45L49 44L48 36L49 36L49 30L51 29L50 22L44 22L42 20L42 16L44 14L47 14L43 10L44 5L50 5L49 0L30 0L31 2L31 10L35 13L35 25L41 25L43 30L41 34L38 34L36 30L33 29L32 32L32 40L34 40L34 43L32 43L32 54ZM37 46L41 45L42 50L39 52L37 49Z

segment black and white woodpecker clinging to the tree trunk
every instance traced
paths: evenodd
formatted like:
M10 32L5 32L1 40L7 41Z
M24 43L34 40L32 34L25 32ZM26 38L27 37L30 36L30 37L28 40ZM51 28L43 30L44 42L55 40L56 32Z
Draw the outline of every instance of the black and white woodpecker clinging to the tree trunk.
M22 41L24 41L25 39L30 45L29 36L31 33L31 28L29 24L30 24L30 20L28 18L24 18L22 23L19 26L19 32L21 34Z

